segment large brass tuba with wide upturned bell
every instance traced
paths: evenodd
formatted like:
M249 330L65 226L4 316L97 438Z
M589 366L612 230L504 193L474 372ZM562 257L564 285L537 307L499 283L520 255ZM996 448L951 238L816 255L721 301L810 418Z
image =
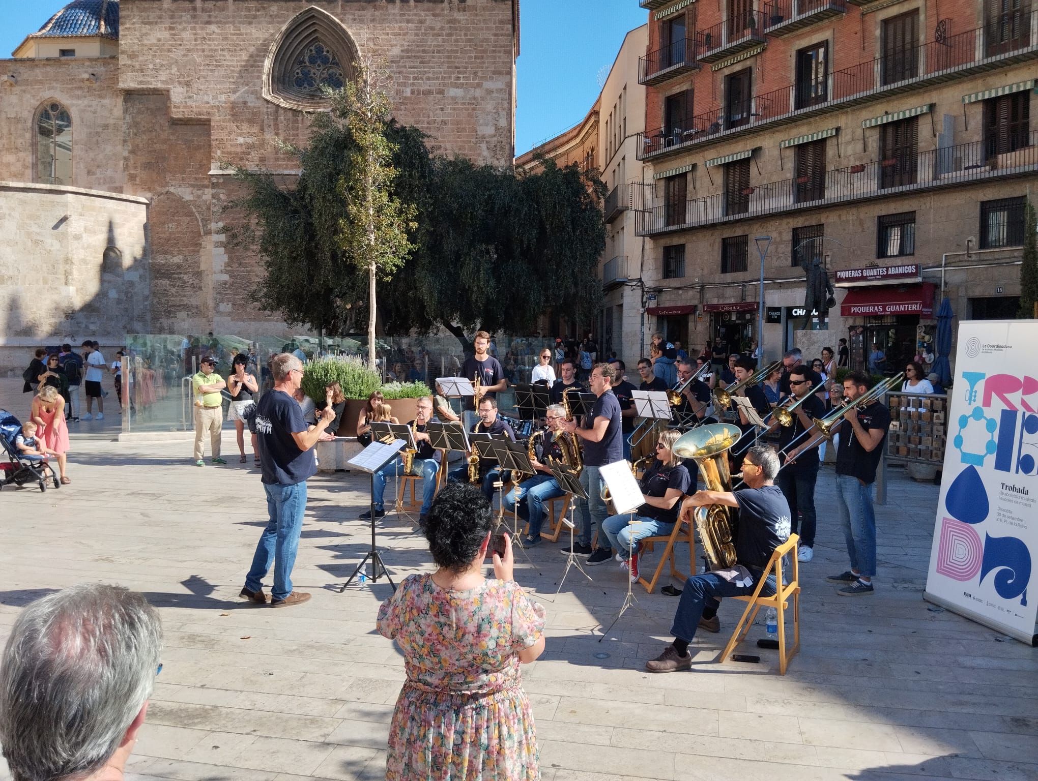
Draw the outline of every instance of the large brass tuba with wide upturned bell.
M674 454L693 459L707 491L731 491L728 451L739 441L742 431L730 423L712 423L681 435L674 443ZM731 508L723 504L696 507L692 520L699 532L707 571L735 566Z

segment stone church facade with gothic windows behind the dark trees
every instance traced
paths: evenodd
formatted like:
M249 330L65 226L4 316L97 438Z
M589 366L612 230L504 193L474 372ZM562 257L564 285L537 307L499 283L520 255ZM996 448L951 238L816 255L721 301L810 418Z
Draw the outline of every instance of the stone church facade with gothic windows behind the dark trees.
M388 63L394 116L511 165L518 0L75 0L0 60L0 365L126 332L265 333L226 164L291 177L322 84ZM6 348L6 350L5 350ZM11 356L13 358L13 356Z

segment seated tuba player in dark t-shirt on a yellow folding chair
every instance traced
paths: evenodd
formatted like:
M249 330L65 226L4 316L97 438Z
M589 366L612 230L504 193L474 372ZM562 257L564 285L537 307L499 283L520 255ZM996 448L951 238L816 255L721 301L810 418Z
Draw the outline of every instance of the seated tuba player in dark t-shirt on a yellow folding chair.
M789 505L774 484L777 474L778 454L774 448L754 445L742 459L744 489L735 493L699 491L682 504L682 519L690 519L696 507L712 504L739 508L736 564L731 569L696 575L685 581L671 627L674 642L656 659L646 663L649 672L691 669L692 654L688 652L688 645L695 637L696 629L702 626L707 632L720 632L717 608L721 597L754 593L771 560L771 554L789 538ZM774 576L770 575L761 594L768 596L774 592Z

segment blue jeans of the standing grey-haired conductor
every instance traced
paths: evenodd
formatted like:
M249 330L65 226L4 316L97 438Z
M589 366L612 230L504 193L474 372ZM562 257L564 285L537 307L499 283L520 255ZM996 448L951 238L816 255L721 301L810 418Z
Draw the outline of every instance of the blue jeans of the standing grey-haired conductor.
M306 511L306 482L292 485L264 483L267 492L267 512L270 521L260 535L256 552L252 556L252 566L245 576L245 588L258 591L263 579L274 562L274 587L270 595L283 599L292 593L292 567L296 563L299 550L299 532L303 528L303 512Z

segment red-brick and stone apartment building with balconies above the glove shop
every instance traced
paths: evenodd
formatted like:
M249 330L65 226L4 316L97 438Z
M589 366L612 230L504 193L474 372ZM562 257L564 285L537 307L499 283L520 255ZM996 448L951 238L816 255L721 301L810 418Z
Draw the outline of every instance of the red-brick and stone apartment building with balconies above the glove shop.
M957 318L1015 316L1038 172L1027 2L640 5L635 233L666 312L649 328L741 346L764 307L768 359L844 337L852 365L877 342L903 368L932 347L943 297ZM757 236L771 240L763 300ZM804 259L837 284L827 319L802 311Z

